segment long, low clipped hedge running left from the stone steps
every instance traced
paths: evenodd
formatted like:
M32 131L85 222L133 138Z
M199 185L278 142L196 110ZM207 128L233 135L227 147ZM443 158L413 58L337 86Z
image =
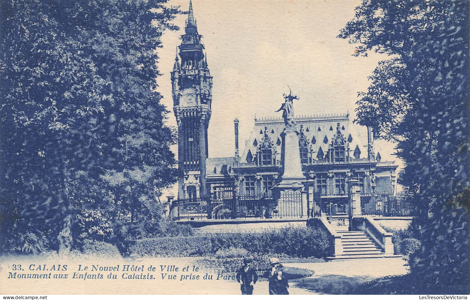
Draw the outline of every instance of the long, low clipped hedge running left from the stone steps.
M204 233L190 237L137 240L129 252L141 257L215 255L220 249L243 248L249 253L286 254L292 257L328 255L328 233L312 227L284 227L264 231Z

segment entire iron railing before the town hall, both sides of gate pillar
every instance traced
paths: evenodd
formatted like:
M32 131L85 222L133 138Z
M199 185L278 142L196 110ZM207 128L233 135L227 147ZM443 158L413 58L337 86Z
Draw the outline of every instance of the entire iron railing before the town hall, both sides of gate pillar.
M236 218L298 218L321 215L347 215L344 195L323 198L319 191L303 203L300 191L272 195L238 195L227 198L210 197L173 200L171 215L177 221ZM305 199L306 201L306 199ZM304 207L305 205L305 207ZM371 216L416 216L412 197L405 193L362 193L360 213Z

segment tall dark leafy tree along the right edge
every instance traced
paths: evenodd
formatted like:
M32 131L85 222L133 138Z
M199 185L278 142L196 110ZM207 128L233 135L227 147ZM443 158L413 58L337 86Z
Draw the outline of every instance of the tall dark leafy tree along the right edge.
M353 55L387 55L356 122L397 142L400 183L422 212L407 292L469 292L469 2L363 0L338 37Z

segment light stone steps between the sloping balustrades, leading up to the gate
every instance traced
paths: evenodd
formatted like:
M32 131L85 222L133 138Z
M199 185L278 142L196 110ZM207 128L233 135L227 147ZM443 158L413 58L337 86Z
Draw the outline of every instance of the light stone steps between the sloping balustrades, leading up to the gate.
M339 227L339 226L338 226ZM341 226L344 227L344 226ZM330 260L376 257L400 257L400 255L385 254L382 248L368 235L366 231L336 230L341 235L342 254L329 256Z

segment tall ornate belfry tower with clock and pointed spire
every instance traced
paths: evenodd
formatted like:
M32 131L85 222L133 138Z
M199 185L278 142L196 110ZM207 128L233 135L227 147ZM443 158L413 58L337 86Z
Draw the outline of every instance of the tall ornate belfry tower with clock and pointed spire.
M212 77L191 0L184 31L171 72L173 111L178 123L178 197L196 198L207 195L205 162Z

